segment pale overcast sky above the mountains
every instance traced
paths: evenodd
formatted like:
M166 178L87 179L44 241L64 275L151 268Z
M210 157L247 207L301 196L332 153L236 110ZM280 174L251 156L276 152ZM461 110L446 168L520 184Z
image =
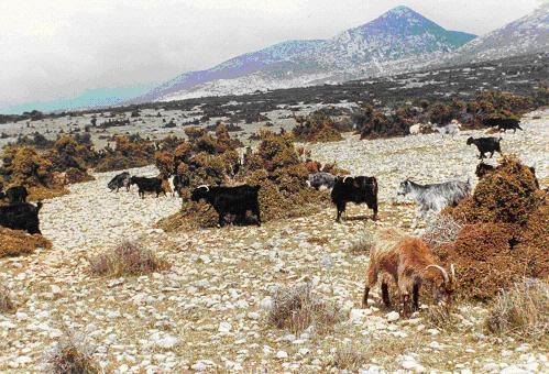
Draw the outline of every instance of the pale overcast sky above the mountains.
M290 38L327 38L405 4L483 34L540 0L0 0L0 107L163 81Z

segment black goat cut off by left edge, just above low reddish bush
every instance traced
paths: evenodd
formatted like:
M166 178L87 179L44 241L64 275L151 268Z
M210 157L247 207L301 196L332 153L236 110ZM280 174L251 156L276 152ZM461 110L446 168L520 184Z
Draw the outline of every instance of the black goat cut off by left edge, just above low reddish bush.
M12 230L24 230L30 234L40 234L41 208L42 201L36 206L30 202L14 202L0 207L0 226Z

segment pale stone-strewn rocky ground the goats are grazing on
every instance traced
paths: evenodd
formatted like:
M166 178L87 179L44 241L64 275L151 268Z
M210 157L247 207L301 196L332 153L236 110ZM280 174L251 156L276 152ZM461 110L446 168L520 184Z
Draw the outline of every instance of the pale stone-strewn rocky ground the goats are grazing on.
M524 132L504 134L502 143L504 152L536 166L543 186L548 119L545 112L525 123ZM345 365L372 373L548 372L547 340L525 343L487 334L482 305L458 305L457 322L448 330L435 328L425 309L399 319L382 307L376 293L370 307L360 309L367 254L354 253L352 244L378 227L421 230L415 207L395 198L404 177L475 182L476 150L465 145L471 134L480 132L363 142L348 136L311 146L316 160L378 178L381 220L375 223L365 207L352 206L341 224L330 208L261 228L165 233L153 224L176 212L179 199L109 193L105 186L113 173L73 186L41 212L42 231L54 249L0 260L0 283L17 304L17 312L0 314L0 372L39 371L64 330L81 334L106 372L318 372ZM131 172L154 174L151 167ZM91 275L87 258L127 239L172 268L139 277ZM267 323L274 293L300 283L341 308L344 317L333 331L308 328L293 334Z

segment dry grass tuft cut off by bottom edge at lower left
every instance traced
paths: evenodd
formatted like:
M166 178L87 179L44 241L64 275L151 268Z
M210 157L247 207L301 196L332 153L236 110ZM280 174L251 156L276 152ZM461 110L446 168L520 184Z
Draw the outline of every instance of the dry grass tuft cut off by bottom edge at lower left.
M94 350L83 336L66 331L57 344L44 354L44 372L54 374L100 373Z

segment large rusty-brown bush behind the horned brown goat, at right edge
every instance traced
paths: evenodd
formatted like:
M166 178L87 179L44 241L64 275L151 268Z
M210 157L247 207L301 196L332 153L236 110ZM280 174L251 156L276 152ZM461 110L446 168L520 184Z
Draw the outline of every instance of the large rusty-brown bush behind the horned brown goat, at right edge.
M435 248L455 264L461 297L486 301L523 277L549 276L547 193L515 156L504 157L472 197L442 215L466 223L453 243Z

